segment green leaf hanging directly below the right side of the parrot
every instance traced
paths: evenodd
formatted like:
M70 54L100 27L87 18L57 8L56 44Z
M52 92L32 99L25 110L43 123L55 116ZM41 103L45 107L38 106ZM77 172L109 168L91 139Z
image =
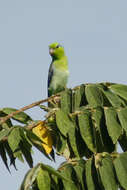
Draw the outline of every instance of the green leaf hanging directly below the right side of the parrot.
M61 110L66 113L70 113L72 110L72 91L71 89L66 89L61 93Z

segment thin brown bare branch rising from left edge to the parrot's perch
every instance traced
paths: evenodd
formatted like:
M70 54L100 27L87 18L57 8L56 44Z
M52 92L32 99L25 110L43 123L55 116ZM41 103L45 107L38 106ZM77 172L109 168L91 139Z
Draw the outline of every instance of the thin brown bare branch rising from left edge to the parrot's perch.
M40 105L40 104L42 104L42 103L44 103L44 102L49 102L50 100L54 99L54 98L57 97L57 96L59 96L59 94L53 95L53 96L51 96L51 97L49 97L49 98L46 98L46 99L44 99L44 100L40 100L40 101L34 102L34 103L32 103L32 104L29 104L28 106L25 106L25 107L23 107L23 108L20 108L19 110L15 111L15 112L12 112L11 114L9 114L9 115L7 115L7 116L5 116L5 117L1 117L1 118L0 118L0 125L3 124L4 122L6 122L6 121L7 121L8 119L10 119L11 117L13 117L14 115L16 115L16 114L18 114L18 113L20 113L20 112L23 112L23 111L25 111L25 110L28 110L28 109L30 109L30 108L33 108L33 107L35 107L35 106L38 106L38 105Z

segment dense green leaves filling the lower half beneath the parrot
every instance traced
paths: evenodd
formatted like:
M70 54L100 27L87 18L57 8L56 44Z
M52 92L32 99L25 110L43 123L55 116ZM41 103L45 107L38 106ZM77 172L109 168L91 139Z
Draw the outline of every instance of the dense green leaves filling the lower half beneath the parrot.
M46 120L41 121L46 126L42 127L43 134L39 132L40 121L33 121L24 112L0 125L0 155L7 169L8 158L14 167L16 159L25 159L32 168L21 190L127 189L126 85L82 84L54 97L50 107L40 107L47 111ZM0 117L13 111L3 108ZM13 125L13 120L23 125ZM45 134L50 141L45 140ZM33 167L32 146L52 160L55 150L66 162L57 170L44 163Z

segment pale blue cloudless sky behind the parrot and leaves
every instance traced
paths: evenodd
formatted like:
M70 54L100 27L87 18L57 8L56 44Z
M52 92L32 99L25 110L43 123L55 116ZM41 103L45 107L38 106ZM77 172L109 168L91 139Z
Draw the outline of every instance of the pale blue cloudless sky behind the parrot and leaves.
M69 60L68 87L88 82L127 82L127 1L0 1L1 107L20 108L47 96L51 58L48 45L60 42ZM43 119L38 108L28 111ZM34 164L49 163L35 151ZM56 166L61 159L58 158ZM55 164L49 163L55 167ZM10 175L0 165L0 189L17 190L26 164Z

